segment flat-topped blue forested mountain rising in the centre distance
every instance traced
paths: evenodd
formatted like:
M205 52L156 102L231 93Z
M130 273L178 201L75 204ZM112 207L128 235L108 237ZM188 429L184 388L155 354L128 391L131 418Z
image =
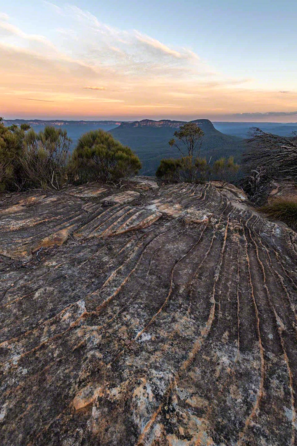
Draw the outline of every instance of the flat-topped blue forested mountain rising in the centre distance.
M237 136L224 135L214 128L208 119L194 120L204 132L201 146L201 156L207 161L216 160L220 157L234 156L240 161L244 145L243 139ZM122 123L110 133L122 144L129 145L142 162L142 175L155 175L162 158L178 158L180 153L171 148L168 141L172 138L175 130L185 121L171 120L142 120L132 123Z

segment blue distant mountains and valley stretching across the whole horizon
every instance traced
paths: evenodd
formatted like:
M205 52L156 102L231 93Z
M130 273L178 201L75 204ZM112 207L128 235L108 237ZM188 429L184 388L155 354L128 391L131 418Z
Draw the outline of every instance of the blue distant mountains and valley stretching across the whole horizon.
M186 121L178 120L150 120L121 121L121 120L4 120L4 125L28 123L35 131L43 130L46 125L67 130L73 140L71 150L82 133L97 128L110 131L122 144L129 145L142 162L143 175L155 175L162 158L179 157L179 152L168 145L175 130ZM215 122L207 119L194 120L204 132L201 155L211 158L211 162L224 156L234 156L240 162L244 150L244 140L252 127L259 127L266 132L289 136L297 130L297 123L259 123L259 122Z

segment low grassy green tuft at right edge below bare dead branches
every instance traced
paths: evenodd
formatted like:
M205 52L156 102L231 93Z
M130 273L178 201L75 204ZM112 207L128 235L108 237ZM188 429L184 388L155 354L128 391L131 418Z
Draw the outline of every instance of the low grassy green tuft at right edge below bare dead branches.
M271 203L260 207L270 218L281 220L293 229L297 229L297 197L276 198Z

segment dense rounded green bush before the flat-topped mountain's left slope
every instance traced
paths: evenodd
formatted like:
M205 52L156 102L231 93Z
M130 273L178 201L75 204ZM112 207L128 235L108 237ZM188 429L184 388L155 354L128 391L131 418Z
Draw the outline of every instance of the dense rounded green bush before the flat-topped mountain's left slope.
M130 147L101 129L79 138L69 163L69 173L81 183L102 180L119 184L137 174L140 168L139 158Z

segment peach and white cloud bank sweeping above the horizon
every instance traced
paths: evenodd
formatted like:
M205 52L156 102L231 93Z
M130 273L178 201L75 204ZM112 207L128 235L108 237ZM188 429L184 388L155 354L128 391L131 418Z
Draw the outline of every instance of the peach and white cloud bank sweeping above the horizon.
M0 13L4 116L286 119L297 113L297 92L252 88L251 79L224 78L190 48L112 28L75 5L43 4L58 25L51 38L25 32Z

